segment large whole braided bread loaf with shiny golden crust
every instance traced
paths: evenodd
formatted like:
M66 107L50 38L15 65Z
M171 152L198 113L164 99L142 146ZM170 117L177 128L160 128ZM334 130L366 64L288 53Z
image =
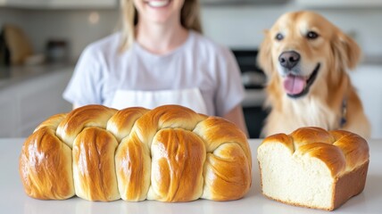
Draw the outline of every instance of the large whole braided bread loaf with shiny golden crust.
M25 141L19 171L37 199L236 200L251 185L245 134L225 119L167 105L87 105L46 119Z

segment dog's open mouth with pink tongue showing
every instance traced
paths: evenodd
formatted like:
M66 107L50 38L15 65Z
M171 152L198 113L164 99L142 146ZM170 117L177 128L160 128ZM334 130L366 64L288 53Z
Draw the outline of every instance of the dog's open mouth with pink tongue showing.
M318 63L313 72L311 72L311 76L309 78L294 75L291 73L288 74L283 82L284 89L286 90L286 95L292 98L298 98L308 94L309 88L317 78L319 70L320 63Z

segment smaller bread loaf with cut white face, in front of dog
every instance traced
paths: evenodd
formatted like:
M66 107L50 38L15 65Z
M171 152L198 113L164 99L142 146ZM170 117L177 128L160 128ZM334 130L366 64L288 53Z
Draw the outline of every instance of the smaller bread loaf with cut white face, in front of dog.
M348 131L299 128L266 137L257 152L262 193L279 202L334 210L365 186L369 145Z

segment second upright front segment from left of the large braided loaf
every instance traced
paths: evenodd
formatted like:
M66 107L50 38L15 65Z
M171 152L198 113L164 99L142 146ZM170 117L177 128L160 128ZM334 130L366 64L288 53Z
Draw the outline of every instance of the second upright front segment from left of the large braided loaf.
M114 167L118 143L102 128L85 128L73 143L76 194L89 201L120 199Z

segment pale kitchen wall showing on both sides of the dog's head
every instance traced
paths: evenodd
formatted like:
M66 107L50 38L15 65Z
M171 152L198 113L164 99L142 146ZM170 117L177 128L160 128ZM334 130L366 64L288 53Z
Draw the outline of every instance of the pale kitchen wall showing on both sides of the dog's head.
M262 30L284 12L296 11L295 6L208 7L203 9L206 35L234 47L257 46ZM367 55L382 56L382 8L316 10L340 29L355 36ZM381 59L382 60L382 59Z

